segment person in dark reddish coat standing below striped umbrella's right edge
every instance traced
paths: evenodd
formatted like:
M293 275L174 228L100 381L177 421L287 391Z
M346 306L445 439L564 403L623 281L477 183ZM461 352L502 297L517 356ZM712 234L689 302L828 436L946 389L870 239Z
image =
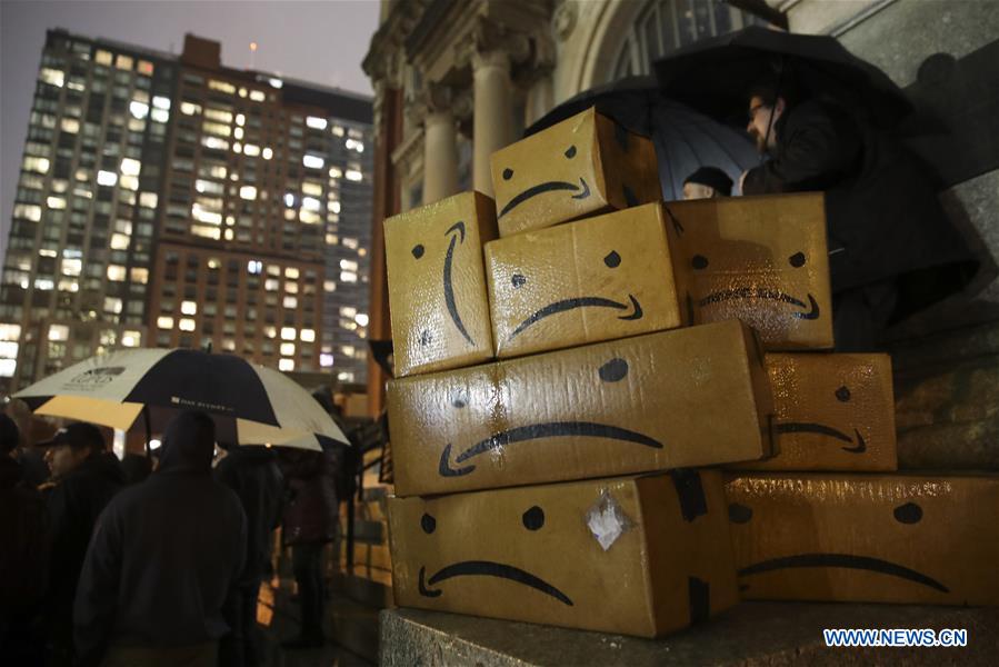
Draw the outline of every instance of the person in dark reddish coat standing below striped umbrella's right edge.
M328 451L296 449L282 452L281 464L289 491L282 539L291 546L302 618L300 635L282 646L313 648L326 643L322 549L336 539L339 522L336 459Z

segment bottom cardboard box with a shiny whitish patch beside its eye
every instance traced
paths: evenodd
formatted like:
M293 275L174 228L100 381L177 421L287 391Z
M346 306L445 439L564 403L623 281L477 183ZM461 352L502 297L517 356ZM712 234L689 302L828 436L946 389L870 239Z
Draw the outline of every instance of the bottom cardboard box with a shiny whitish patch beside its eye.
M738 600L711 471L390 498L396 604L656 637Z

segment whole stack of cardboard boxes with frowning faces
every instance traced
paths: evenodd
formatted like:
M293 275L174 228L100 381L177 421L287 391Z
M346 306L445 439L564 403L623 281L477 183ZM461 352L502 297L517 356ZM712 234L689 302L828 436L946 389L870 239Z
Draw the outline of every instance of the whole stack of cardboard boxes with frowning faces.
M927 499L977 494L993 525L975 557L999 560L993 479L740 472L726 488L702 469L896 467L886 357L765 356L832 346L821 196L663 205L650 142L592 110L498 151L492 173L496 202L386 221L399 605L651 637L740 585L856 599L830 571L878 560L851 549L880 544L871 506L890 499L921 529ZM827 507L855 524L817 525ZM961 576L997 596L996 573Z

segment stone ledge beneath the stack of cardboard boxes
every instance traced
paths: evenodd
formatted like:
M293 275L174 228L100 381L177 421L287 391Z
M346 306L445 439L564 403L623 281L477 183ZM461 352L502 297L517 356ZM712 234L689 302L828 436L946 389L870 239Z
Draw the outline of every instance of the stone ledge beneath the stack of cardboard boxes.
M823 628L966 628L966 648L827 648ZM420 609L381 613L380 664L995 665L999 609L743 603L711 623L648 640Z

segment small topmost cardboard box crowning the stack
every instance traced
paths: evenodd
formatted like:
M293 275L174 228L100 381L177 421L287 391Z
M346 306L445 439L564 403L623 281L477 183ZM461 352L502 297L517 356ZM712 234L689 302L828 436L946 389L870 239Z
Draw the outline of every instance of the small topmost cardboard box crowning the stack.
M592 108L492 153L500 236L662 199L652 142Z

